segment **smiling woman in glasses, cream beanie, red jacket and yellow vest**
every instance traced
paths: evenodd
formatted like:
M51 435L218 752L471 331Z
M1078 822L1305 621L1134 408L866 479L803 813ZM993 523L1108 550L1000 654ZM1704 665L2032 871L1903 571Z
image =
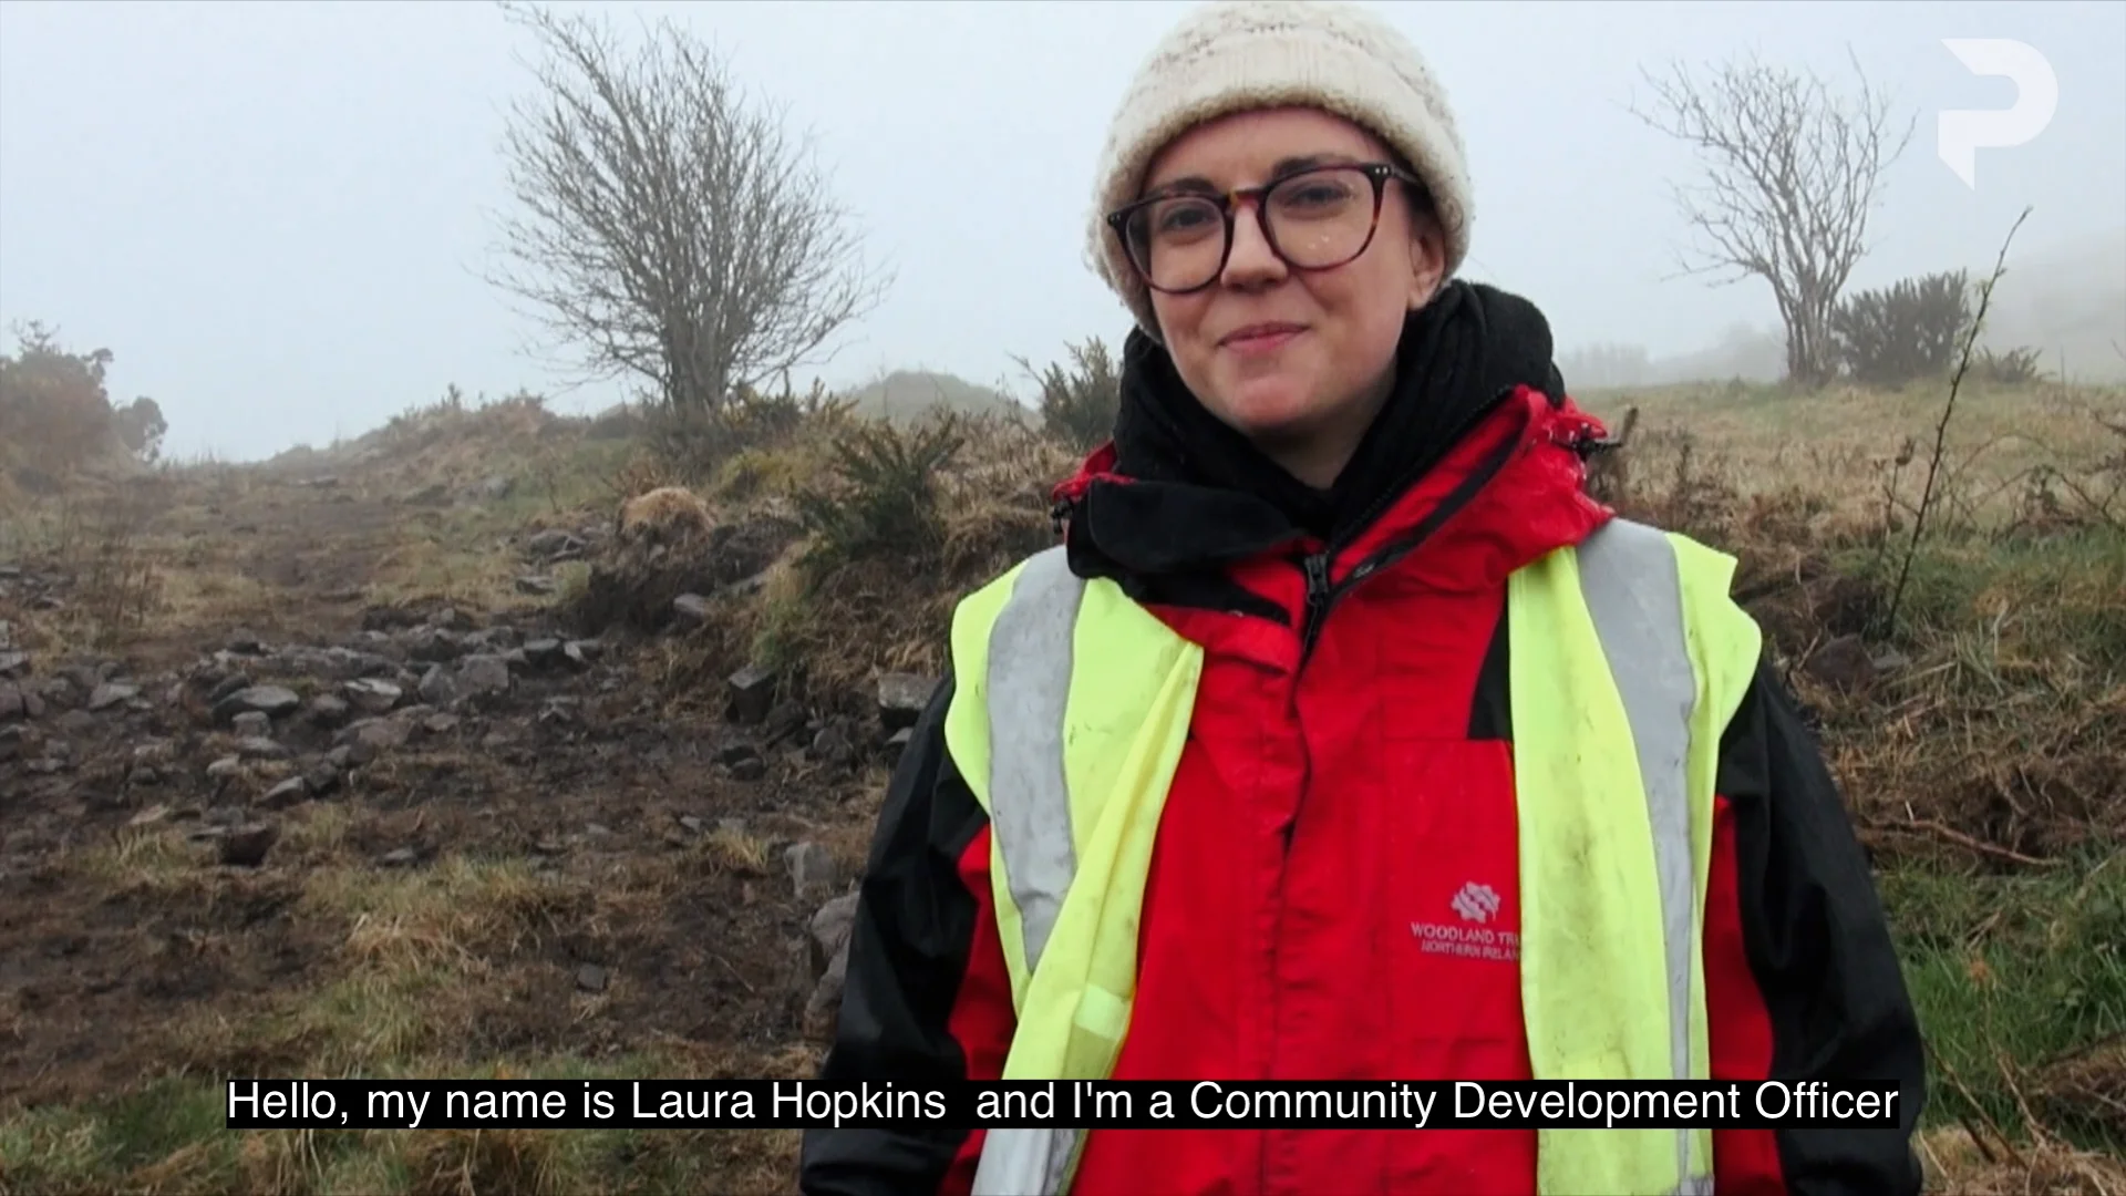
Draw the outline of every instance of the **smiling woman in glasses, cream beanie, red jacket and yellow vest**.
M1097 196L1114 441L1065 547L961 604L823 1079L1852 1079L1905 1124L910 1124L810 1132L804 1190L1916 1192L1920 1039L1839 796L1728 560L1584 494L1543 317L1452 279L1420 55L1201 9Z

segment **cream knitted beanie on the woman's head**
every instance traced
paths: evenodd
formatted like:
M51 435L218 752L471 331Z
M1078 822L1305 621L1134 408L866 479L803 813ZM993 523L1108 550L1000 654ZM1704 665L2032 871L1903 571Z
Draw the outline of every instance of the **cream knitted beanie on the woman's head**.
M1424 57L1378 15L1337 0L1212 0L1137 68L1101 151L1093 196L1093 270L1159 340L1150 292L1106 215L1191 126L1244 109L1316 106L1365 126L1424 179L1446 228L1448 275L1469 253L1469 168L1454 111Z

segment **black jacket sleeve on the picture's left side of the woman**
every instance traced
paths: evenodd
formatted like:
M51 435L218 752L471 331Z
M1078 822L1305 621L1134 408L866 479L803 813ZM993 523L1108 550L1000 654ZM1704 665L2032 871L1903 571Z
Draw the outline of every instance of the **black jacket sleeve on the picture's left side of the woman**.
M921 1085L967 1075L948 1030L978 913L959 879L959 856L984 815L944 745L950 700L952 677L946 677L916 721L878 811L823 1081ZM806 1196L935 1192L967 1132L918 1122L806 1130L797 1190Z

